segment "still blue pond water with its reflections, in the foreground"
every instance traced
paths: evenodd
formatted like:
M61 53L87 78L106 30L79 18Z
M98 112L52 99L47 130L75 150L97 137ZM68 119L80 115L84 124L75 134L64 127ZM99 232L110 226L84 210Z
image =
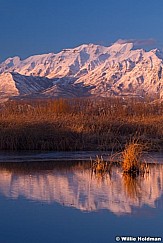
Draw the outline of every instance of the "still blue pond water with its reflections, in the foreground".
M0 243L163 237L163 163L151 163L148 174L134 179L117 166L92 173L86 160L13 162L10 157L4 163L2 157Z

